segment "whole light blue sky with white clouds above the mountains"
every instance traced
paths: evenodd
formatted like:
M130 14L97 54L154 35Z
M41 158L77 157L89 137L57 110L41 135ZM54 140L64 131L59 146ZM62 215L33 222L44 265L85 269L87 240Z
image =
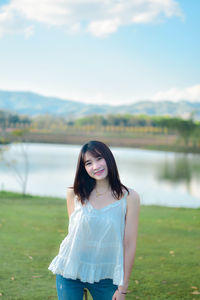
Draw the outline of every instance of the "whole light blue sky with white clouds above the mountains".
M0 90L200 101L199 0L0 0Z

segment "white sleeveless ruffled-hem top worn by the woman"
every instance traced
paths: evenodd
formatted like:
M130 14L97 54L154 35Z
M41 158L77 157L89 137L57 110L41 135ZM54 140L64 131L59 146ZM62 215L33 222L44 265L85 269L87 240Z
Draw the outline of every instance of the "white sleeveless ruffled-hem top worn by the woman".
M123 285L127 194L101 209L95 209L87 200L82 205L75 197L68 235L48 269L54 274L83 282L110 278L114 284Z

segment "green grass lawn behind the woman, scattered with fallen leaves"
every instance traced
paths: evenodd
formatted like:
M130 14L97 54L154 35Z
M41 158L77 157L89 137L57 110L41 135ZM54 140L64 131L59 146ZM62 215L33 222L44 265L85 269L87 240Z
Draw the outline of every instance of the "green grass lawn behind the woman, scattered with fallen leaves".
M0 192L0 299L57 299L48 265L67 227L62 199ZM141 206L128 291L126 300L200 300L200 209Z

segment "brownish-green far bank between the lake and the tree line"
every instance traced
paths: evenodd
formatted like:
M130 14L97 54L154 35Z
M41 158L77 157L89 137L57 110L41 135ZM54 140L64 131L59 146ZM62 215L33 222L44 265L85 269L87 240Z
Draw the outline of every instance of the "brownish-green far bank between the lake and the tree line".
M42 144L61 144L61 145L83 145L89 140L100 140L111 147L127 147L144 150L158 150L165 152L179 153L200 153L200 147L186 147L182 141L178 140L176 135L135 135L126 136L120 134L105 135L101 132L85 132L69 134L66 132L29 132L16 139L15 136L7 134L5 136L6 145L14 142L23 143L42 143Z

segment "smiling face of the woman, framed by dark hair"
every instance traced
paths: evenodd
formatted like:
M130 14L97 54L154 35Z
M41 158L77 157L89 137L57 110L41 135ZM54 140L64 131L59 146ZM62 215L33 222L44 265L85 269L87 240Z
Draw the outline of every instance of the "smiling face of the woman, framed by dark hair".
M85 170L88 175L96 180L105 179L108 175L108 167L105 159L99 155L94 157L90 152L85 153Z

